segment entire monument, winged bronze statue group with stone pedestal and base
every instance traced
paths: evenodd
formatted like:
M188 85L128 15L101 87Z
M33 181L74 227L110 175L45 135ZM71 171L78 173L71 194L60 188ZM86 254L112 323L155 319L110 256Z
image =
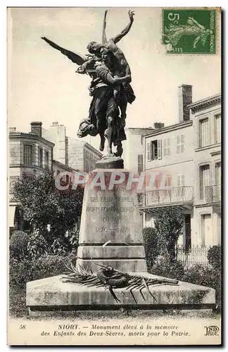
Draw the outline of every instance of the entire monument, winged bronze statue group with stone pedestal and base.
M87 56L42 38L80 65L77 73L91 77L89 117L80 122L77 136L99 134L100 150L107 143L107 152L84 189L76 265L65 275L28 282L27 306L34 315L56 309L213 308L214 289L147 272L137 182L121 158L127 103L133 103L135 96L131 70L116 44L132 27L134 13L129 11L129 24L110 40L106 15L107 11L102 43L89 43Z

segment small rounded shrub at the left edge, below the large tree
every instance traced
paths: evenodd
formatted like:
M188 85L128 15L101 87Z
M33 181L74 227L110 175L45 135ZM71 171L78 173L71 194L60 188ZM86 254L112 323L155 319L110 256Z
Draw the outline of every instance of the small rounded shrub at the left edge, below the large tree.
M27 256L27 234L23 231L14 231L9 241L10 255L16 260Z

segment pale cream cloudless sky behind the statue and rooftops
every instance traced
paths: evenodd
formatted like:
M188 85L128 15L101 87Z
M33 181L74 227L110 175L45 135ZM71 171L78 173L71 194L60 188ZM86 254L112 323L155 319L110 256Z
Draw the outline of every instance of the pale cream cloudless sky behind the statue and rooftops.
M107 37L129 22L128 10L109 8ZM30 131L31 121L66 127L77 138L80 120L89 111L87 75L51 48L45 36L65 49L86 54L91 41L101 42L105 8L11 8L8 10L8 126ZM127 127L178 122L177 87L192 84L193 101L220 93L220 49L216 55L168 55L161 44L160 8L135 8L132 29L118 43L132 70L137 99L127 108ZM217 43L220 48L220 43ZM92 138L92 144L99 137ZM91 139L90 139L91 142Z

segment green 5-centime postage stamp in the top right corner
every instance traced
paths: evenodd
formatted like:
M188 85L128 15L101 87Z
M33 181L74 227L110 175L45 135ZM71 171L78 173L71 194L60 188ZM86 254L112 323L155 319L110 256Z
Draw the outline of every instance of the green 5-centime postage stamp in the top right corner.
M216 54L215 8L163 9L168 54Z

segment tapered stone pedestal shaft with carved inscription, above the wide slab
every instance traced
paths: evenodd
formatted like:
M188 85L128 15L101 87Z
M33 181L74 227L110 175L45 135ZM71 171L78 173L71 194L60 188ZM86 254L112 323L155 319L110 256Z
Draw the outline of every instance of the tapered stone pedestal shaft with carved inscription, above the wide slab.
M136 184L124 169L96 169L84 189L77 265L146 272ZM115 184L115 182L117 184ZM132 183L132 184L131 184Z

